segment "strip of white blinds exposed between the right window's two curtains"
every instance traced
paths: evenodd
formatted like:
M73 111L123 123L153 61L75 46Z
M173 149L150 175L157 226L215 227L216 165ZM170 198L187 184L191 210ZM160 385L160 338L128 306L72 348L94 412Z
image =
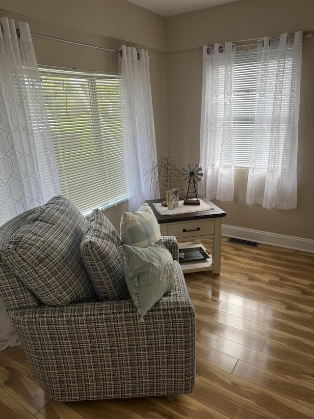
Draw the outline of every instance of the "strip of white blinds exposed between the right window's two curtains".
M233 130L235 167L249 168L255 124L257 51L235 53Z

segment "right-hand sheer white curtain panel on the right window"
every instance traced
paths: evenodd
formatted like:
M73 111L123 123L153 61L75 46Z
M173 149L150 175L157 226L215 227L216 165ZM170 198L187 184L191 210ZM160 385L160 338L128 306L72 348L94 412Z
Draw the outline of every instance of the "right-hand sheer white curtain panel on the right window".
M297 206L297 149L302 32L258 44L255 132L246 202Z

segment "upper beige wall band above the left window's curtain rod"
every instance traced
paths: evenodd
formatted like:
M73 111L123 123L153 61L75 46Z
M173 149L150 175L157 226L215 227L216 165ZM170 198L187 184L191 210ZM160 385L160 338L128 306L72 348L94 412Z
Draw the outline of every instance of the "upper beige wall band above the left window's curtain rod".
M85 34L165 51L165 20L126 0L1 0L1 9ZM54 36L53 33L51 36Z

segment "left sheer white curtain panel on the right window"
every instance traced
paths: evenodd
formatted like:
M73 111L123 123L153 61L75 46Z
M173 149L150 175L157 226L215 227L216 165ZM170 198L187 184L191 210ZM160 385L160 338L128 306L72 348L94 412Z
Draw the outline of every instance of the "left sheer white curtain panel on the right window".
M232 201L234 196L232 42L213 49L203 46L203 94L200 165L204 177L199 193L208 199Z

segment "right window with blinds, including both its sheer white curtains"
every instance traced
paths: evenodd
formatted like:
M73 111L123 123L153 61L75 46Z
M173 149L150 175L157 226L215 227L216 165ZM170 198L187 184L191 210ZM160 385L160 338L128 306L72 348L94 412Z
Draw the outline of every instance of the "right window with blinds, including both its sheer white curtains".
M234 168L249 167L246 203L296 208L302 38L301 31L266 36L256 52L232 42L203 47L200 189L207 198L233 200Z

